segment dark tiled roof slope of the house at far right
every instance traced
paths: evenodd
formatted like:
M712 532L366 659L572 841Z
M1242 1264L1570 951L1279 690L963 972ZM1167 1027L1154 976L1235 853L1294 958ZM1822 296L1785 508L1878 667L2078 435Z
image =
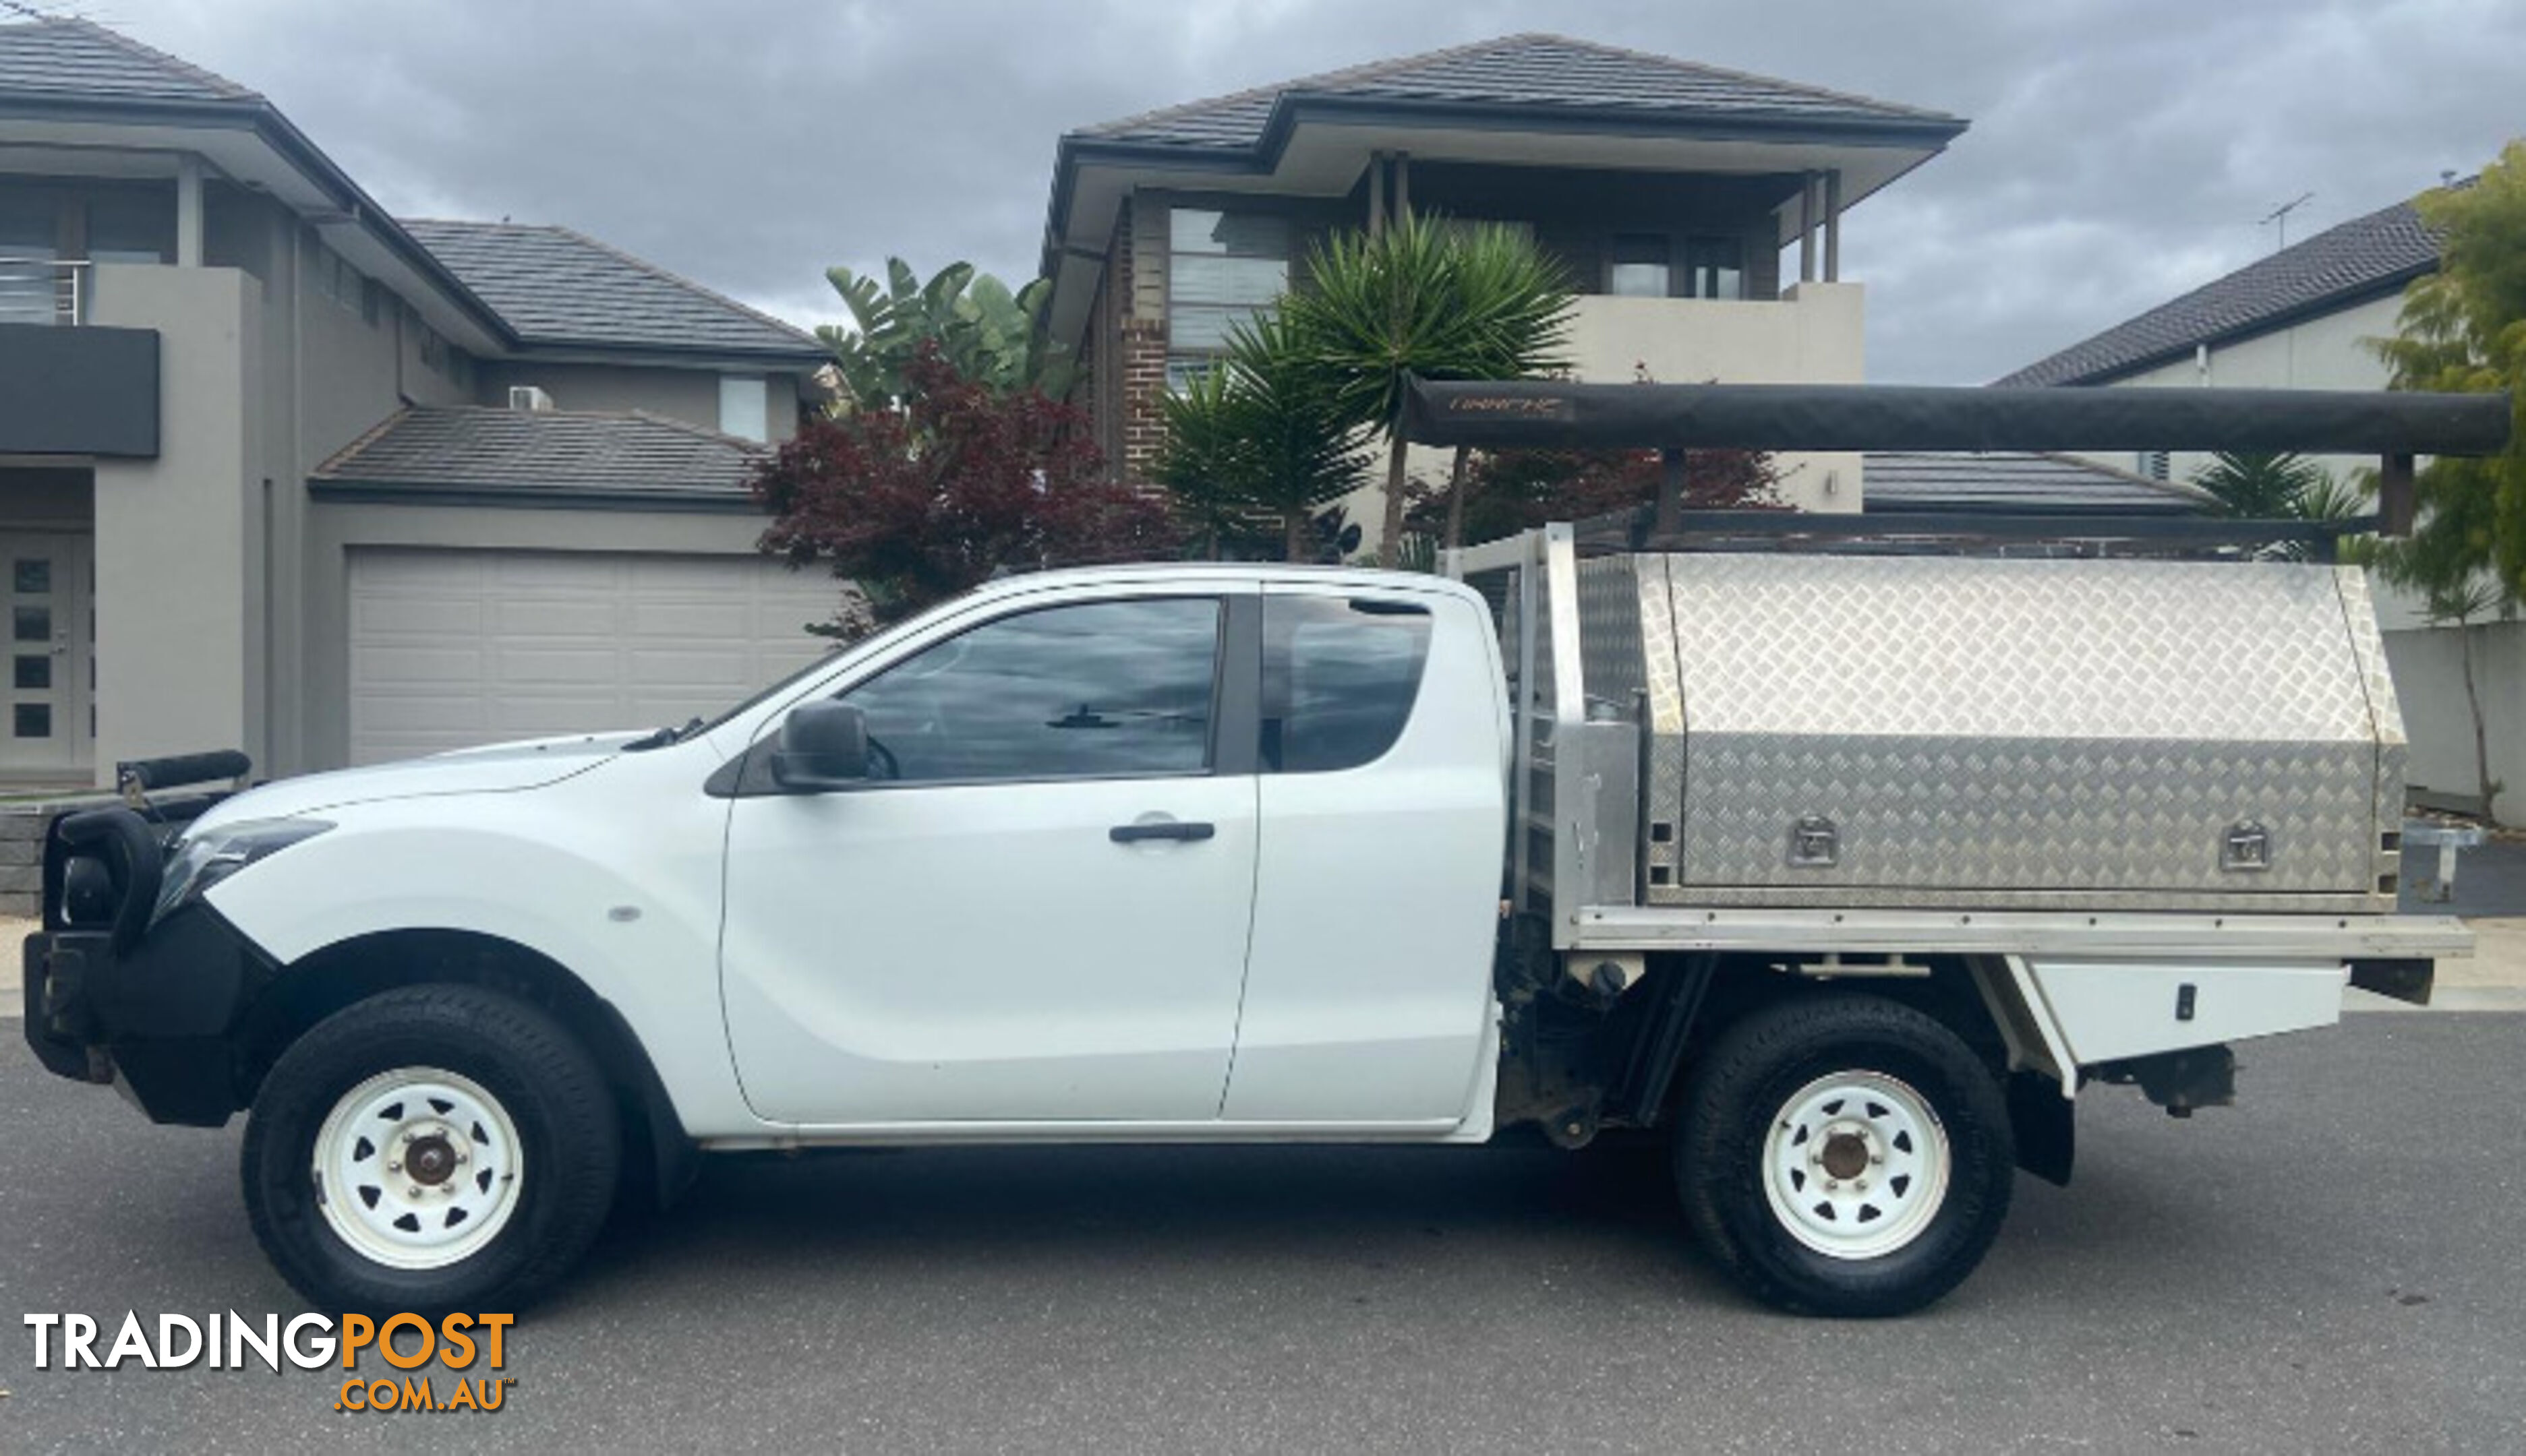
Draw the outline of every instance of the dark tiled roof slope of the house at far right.
M2228 278L2084 338L1998 384L2099 384L2198 343L2256 333L2266 326L2352 303L2438 267L2438 237L2410 202L2379 207L2339 227L2238 267Z

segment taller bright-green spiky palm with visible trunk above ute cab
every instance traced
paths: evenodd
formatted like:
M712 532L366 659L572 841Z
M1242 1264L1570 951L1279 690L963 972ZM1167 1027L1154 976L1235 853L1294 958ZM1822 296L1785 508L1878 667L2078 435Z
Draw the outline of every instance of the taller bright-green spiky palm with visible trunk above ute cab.
M1293 346L1329 379L1341 416L1387 432L1377 550L1394 565L1404 535L1404 381L1561 368L1571 290L1523 232L1404 214L1382 232L1344 232L1314 247L1308 288L1281 313Z

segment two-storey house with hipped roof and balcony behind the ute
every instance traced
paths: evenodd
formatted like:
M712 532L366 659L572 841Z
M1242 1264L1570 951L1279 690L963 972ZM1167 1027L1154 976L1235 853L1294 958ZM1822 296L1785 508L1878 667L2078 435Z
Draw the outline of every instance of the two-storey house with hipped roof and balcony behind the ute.
M1508 35L1086 126L1053 161L1048 333L1127 477L1159 394L1308 247L1407 209L1526 230L1579 290L1576 379L1859 384L1841 217L1965 121L1561 35ZM1864 462L1783 457L1806 510ZM1374 527L1374 510L1351 510Z

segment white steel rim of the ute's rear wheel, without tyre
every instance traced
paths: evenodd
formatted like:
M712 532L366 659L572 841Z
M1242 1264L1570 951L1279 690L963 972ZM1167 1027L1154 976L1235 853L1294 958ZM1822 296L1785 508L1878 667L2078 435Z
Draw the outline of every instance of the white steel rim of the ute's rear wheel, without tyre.
M1791 1239L1829 1259L1907 1247L1948 1199L1955 1156L1930 1100L1884 1072L1831 1072L1781 1105L1763 1196Z

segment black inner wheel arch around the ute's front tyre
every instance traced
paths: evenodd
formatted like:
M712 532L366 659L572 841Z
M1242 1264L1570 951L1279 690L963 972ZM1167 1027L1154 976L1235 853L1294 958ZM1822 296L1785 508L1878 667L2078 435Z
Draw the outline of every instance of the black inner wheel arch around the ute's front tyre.
M394 929L333 941L285 964L232 1032L237 1105L321 1019L397 987L470 984L513 994L561 1019L596 1057L624 1125L624 1166L657 1206L690 1181L697 1151L674 1098L621 1009L553 956L482 931Z

